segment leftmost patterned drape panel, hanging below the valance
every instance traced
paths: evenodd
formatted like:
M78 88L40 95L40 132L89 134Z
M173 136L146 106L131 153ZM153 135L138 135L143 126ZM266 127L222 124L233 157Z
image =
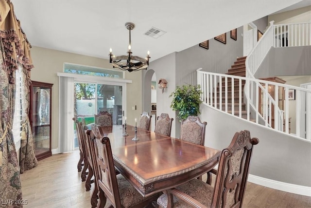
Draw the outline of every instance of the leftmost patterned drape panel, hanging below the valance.
M0 199L4 207L22 207L22 205L5 203L8 200L21 200L22 194L17 153L11 128L14 116L15 84L9 83L2 41L0 41L0 51ZM11 77L14 78L14 76Z

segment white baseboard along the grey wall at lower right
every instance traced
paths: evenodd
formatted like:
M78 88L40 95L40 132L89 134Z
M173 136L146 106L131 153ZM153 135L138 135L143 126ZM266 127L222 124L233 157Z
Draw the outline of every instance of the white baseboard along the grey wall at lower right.
M286 191L286 192L295 193L295 194L304 195L304 196L311 196L311 187L284 183L284 182L262 178L262 177L251 175L251 174L248 174L247 181L254 183L254 184L258 184L260 186L265 186L271 189L277 189L277 190Z

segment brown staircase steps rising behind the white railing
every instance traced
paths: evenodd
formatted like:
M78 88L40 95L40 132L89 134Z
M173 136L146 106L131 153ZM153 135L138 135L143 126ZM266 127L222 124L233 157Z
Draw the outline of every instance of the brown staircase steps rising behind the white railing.
M239 57L237 58L237 60L234 62L234 65L231 66L231 69L228 70L228 73L225 73L226 75L233 75L233 76L243 76L245 77L245 59L246 57ZM235 115L239 115L239 111L237 109L239 109L239 93L240 93L240 89L239 89L239 79L234 79L234 86L233 86L233 94L234 94L234 108L232 108L232 80L228 79L227 80L227 95L228 95L228 99L227 99L227 108L228 108L228 113L232 113L232 109L234 109L234 114ZM247 118L247 112L245 111L245 103L243 103L243 89L244 89L244 85L245 85L245 80L242 80L241 82L242 84L242 118ZM218 83L217 86L217 100L219 101L220 98L222 99L222 108L220 109L220 102L217 103L217 109L220 109L222 111L225 111L225 77L222 78L222 96L219 96L220 94L220 84ZM229 96L230 95L230 96ZM215 97L215 96L214 96ZM215 105L214 105L215 106Z

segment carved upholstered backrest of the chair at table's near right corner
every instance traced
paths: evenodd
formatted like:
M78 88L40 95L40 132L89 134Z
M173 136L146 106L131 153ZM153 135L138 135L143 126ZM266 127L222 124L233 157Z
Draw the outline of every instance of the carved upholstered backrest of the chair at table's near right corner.
M222 150L212 208L242 207L253 145L258 143L258 138L251 138L244 130L236 132L229 147Z

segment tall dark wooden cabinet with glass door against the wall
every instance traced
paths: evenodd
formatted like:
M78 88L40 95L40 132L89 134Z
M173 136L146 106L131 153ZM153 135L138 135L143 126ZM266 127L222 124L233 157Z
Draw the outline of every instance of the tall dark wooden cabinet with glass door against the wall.
M51 109L52 85L32 81L30 86L29 120L32 128L37 160L52 155L51 149Z

